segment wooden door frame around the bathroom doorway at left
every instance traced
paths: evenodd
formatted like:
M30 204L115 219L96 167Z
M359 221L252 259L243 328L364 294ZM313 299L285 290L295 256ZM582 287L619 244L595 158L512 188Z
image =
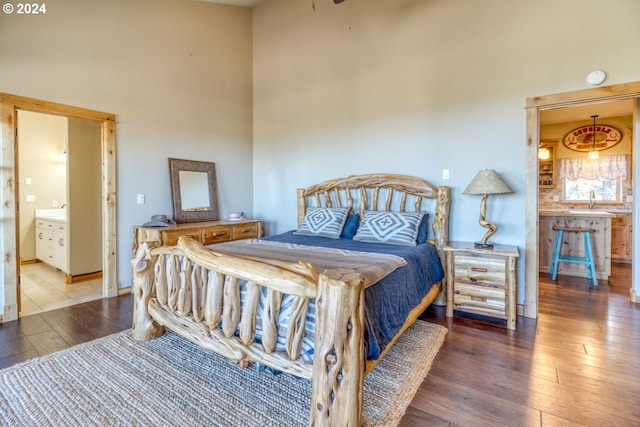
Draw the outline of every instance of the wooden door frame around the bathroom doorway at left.
M88 119L101 124L102 150L102 272L103 297L118 295L116 271L116 130L115 115L85 108L72 107L54 102L25 98L0 93L0 146L2 168L0 180L2 191L2 245L4 276L4 312L2 321L18 318L18 271L19 259L17 228L17 165L16 165L16 118L17 110L53 114L70 118Z

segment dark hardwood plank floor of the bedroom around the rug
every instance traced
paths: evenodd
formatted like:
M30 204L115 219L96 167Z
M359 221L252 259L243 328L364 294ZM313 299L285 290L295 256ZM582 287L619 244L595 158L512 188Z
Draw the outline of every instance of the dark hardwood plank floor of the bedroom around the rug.
M608 282L540 276L537 321L422 316L449 329L401 425L640 425L640 305L631 269ZM0 367L131 327L131 295L0 324Z

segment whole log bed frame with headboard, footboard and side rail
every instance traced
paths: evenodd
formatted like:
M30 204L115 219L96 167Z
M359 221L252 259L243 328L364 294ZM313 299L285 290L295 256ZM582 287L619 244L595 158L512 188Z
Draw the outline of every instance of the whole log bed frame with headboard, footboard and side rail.
M424 208L429 203L435 204L433 210ZM353 175L299 189L298 223L308 206L351 207L361 217L365 210L427 210L433 222L430 242L443 261L442 249L449 238L450 203L449 187L436 187L419 178ZM310 379L309 425L361 424L364 377L379 359L365 361L364 357L364 290L358 274L329 279L310 264L225 255L185 236L175 247L141 245L132 265L135 339L156 338L166 328L243 365L259 362ZM247 291L241 307L242 280L247 281ZM257 343L256 310L262 287L267 288L267 301L263 338ZM442 289L442 283L431 288L380 358ZM286 352L275 350L283 294L295 297ZM305 364L299 355L310 298L316 298L316 342L313 364Z

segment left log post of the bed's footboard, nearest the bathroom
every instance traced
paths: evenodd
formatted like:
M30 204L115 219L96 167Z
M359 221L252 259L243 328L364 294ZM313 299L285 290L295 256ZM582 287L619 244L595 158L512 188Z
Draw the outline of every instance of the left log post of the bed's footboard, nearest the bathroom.
M164 333L164 327L149 315L149 301L154 296L154 265L157 256L151 256L146 243L138 248L131 260L133 265L133 338L147 341Z

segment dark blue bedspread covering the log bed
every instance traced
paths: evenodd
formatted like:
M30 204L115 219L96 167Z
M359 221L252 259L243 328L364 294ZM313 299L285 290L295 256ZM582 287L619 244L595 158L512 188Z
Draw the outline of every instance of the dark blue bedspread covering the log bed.
M265 237L259 241L270 241L272 243L280 243L281 245L287 244L290 248L323 247L331 251L342 251L338 253L354 255L366 254L366 258L369 258L369 255L376 257L382 255L381 259L402 260L402 266L397 265L395 270L387 272L387 275L382 277L375 286L369 286L365 289L365 355L367 359L377 359L380 357L381 351L398 333L409 312L422 300L431 285L442 280L444 277L438 253L435 247L428 243L417 246L387 245L359 242L351 239L300 236L294 234L292 231ZM246 241L241 240L237 242L242 243ZM211 245L209 248L227 253L228 251L234 250L237 246L238 244L236 242L227 242ZM277 258L267 250L267 248L273 249L275 246L261 246L261 244L256 243L247 244L247 246L251 246L253 249L256 247L262 248L263 258ZM292 259L290 258L290 261L298 262L302 259L297 250L290 250L288 252L291 256L294 256ZM232 253L236 254L235 252ZM344 265L342 267L336 267L335 264L333 266L324 264L320 267L317 259L318 254L322 255L323 252L316 252L313 256L309 255L308 260L311 260L311 264L315 265L319 271L322 271L320 270L321 268L333 268L334 270L331 273L335 273L339 268L344 267ZM247 253L237 255L245 257L257 256L255 252L253 255L248 255ZM389 258L388 255L392 257ZM320 258L322 258L322 256ZM307 258L305 257L305 259ZM345 260L350 271L354 270L352 262L353 259L350 259L348 262ZM405 262L407 265L404 265ZM376 263L374 263L374 265L375 264ZM367 275L369 274L370 273L367 273ZM371 279L371 276L368 276L366 280L372 281L373 279ZM241 286L241 293L244 293L243 285ZM290 299L290 296L285 296L281 306L280 317L278 319L279 342L276 347L278 350L284 350L284 346L281 346L281 343L284 343L284 337L286 336L286 325L288 323L291 306ZM314 313L315 299L312 299L309 302L305 338L302 346L303 354L301 355L301 359L305 362L313 361L315 335ZM256 319L257 340L260 340L262 336L261 315L262 301L258 306L259 318Z

